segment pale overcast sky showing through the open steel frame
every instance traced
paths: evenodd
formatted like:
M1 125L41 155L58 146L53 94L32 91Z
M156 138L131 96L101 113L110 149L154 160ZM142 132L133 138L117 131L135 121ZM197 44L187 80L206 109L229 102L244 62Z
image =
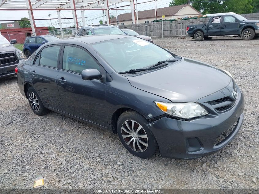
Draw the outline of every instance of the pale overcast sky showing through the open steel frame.
M139 0L138 3L141 2L146 2L148 0ZM157 0L157 8L162 8L162 7L168 7L170 0ZM124 5L129 5L129 2L121 2L117 3L117 6L124 6ZM148 3L143 3L143 4L138 4L138 11L143 11L143 10L151 10L155 8L155 2L148 2ZM123 14L123 13L129 13L131 12L130 6L128 7L122 7L120 9L124 10L117 10L117 14ZM73 17L72 16L72 11L71 10L64 10L60 11L61 13L61 18L69 18ZM85 12L85 19L86 25L90 25L91 23L93 24L99 24L99 21L102 20L102 10L86 10ZM112 13L112 14L111 14ZM49 18L48 14L51 14L51 18L58 18L57 12L56 11L33 11L33 15L35 19L41 19L41 18ZM116 16L116 11L115 10L110 10L110 16ZM29 18L28 11L0 11L0 18L2 20L11 20L13 21L21 19L23 17ZM81 11L77 11L77 17L81 17ZM106 21L106 18L105 18ZM42 27L42 26L51 26L52 25L55 28L59 28L59 22L58 20L36 20L36 27ZM2 22L0 22L2 23ZM73 19L62 19L62 27L70 27L74 24ZM82 19L78 19L78 25L82 25Z

